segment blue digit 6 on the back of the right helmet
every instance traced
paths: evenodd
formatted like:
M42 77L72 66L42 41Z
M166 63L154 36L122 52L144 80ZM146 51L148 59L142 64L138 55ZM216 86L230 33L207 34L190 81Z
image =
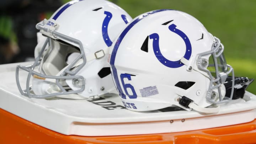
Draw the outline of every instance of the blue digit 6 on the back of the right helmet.
M124 92L126 93L126 95L129 98L137 98L137 94L134 90L134 87L131 84L124 84L124 78L127 78L128 80L132 80L131 75L130 74L121 74L120 78L121 78L122 85L123 85L123 88L124 88ZM133 93L132 95L128 94L128 91L127 91L128 88L130 88L130 90L132 90L132 93Z

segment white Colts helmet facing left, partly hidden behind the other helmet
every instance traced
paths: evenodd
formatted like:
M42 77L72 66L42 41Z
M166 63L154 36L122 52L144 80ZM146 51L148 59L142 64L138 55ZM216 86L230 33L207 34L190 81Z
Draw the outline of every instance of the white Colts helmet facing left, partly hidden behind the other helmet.
M17 66L19 91L34 98L89 98L115 92L107 54L131 19L106 0L64 4L49 20L36 25L47 39L40 38L45 42L38 43L33 65ZM19 69L29 72L25 90L20 86Z

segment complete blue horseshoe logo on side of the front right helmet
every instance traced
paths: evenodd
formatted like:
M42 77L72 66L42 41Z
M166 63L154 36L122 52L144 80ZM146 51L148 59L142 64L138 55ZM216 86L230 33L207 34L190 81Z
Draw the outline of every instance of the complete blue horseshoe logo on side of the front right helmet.
M186 53L184 55L184 58L189 60L191 57L192 49L191 49L190 40L188 39L187 35L185 33L183 33L181 30L177 29L175 24L170 25L169 30L178 34L183 39L183 41L186 44ZM160 48L159 48L159 35L157 33L150 34L149 38L153 39L153 50L154 50L155 56L159 60L159 62L161 62L163 65L165 65L169 68L179 68L184 65L183 63L181 63L180 60L171 61L171 60L166 59L162 55Z

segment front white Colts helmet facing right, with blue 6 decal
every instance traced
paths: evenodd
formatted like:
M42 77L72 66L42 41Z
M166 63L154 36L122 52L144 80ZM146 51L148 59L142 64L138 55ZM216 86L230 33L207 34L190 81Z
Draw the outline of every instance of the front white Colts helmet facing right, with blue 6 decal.
M114 83L133 111L179 106L203 113L232 99L234 71L224 46L194 17L176 10L142 14L127 25L110 49ZM223 85L229 74L231 96Z

